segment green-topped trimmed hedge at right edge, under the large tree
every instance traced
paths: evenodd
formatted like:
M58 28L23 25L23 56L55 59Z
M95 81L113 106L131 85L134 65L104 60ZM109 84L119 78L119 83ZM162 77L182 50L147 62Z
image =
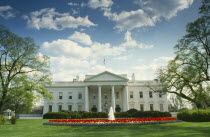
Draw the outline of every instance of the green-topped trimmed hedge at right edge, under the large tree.
M210 122L210 109L184 110L178 112L177 118L188 122Z

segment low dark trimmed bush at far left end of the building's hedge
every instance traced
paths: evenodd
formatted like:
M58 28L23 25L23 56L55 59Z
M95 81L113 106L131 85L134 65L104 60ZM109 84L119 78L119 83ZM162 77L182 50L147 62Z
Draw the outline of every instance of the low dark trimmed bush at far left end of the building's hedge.
M43 115L43 119L69 119L70 115L66 112L48 112Z

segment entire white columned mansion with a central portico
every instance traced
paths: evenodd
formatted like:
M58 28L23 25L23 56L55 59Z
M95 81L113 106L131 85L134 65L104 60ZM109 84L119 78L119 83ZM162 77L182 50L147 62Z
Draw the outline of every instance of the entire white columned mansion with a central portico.
M133 74L116 75L105 71L97 75L86 75L84 81L77 76L72 82L54 82L48 91L52 100L44 101L44 113L60 110L107 112L112 106L121 111L137 110L168 111L167 94L153 92L148 87L158 88L157 80L138 81Z

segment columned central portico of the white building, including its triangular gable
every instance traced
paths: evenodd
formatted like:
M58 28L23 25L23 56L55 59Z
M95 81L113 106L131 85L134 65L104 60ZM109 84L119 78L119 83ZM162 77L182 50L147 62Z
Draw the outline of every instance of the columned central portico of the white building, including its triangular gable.
M96 105L98 112L106 111L110 106L115 110L116 105L127 111L129 107L127 81L127 78L107 71L86 78L85 111L90 111L92 107L90 105ZM95 96L91 96L90 92L97 93L97 103L92 100Z

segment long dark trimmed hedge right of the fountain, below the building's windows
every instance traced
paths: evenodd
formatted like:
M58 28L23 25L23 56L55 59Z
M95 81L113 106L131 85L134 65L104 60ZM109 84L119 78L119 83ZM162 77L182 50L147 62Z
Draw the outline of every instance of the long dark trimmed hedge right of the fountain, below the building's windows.
M121 113L115 113L116 118L152 118L152 117L171 117L169 112L160 111L127 111Z

